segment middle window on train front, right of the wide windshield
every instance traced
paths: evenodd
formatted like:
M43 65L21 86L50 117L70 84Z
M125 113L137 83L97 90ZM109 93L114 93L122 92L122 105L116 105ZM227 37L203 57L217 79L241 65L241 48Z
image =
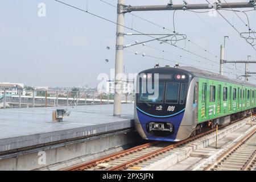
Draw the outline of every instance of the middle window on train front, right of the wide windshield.
M166 88L166 103L177 104L180 84L170 83Z

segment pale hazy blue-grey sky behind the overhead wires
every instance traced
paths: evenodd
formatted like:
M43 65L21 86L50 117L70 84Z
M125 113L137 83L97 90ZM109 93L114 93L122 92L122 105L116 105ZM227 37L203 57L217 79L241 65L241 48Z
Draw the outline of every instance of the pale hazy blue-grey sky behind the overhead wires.
M115 7L100 0L61 1L116 22ZM117 4L117 0L105 1ZM168 2L126 0L127 5L134 6L166 5ZM187 2L207 3L204 0ZM46 5L46 16L38 15L39 3ZM181 4L183 1L176 0L173 3ZM237 30L248 31L243 24L247 22L245 14L237 13L242 22L233 11L220 12ZM175 25L175 31L186 35L188 39L176 43L176 46L183 49L166 43L160 44L158 41L147 43L146 46L125 48L123 63L126 74L153 68L156 63L174 66L176 62L217 73L220 67L220 45L224 44L224 36L229 36L226 39L225 60L247 60L248 55L251 60L256 60L256 51L245 39L240 38L221 15L175 11L173 22L174 11L133 14L125 15L125 26L144 34L172 34ZM247 15L251 29L256 30L253 20L256 11L250 11ZM30 86L95 87L100 82L97 80L98 75L106 73L110 76L110 70L115 67L115 32L116 24L53 0L3 0L0 6L0 82L22 82ZM125 32L133 31L126 29ZM125 44L133 44L133 40L143 42L149 39L151 38L142 35L125 36ZM147 56L142 56L143 53ZM226 64L225 76L236 78L245 72L244 69L243 64ZM256 72L256 65L250 64L249 71ZM250 82L256 84L255 79L255 76L250 77Z

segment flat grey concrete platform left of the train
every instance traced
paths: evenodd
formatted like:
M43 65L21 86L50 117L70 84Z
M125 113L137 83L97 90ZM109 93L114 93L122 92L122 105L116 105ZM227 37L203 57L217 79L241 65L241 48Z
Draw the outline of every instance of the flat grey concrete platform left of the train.
M113 105L37 107L0 110L0 152L133 127L133 104L122 104L122 117ZM52 110L68 109L69 117L52 122Z

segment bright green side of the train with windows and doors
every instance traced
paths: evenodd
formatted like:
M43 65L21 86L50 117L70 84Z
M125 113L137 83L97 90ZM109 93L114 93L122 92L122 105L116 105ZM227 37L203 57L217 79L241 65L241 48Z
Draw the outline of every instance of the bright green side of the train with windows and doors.
M256 107L256 88L199 78L199 123Z

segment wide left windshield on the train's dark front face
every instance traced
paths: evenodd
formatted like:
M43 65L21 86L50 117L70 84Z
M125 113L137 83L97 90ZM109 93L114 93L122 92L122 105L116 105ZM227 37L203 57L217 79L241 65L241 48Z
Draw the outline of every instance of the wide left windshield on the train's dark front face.
M150 90L147 88L147 84L139 84L139 102L149 102L149 103L162 103L163 102L163 92L164 84L156 84L158 88L154 88L152 85L152 90L154 92L148 92Z

